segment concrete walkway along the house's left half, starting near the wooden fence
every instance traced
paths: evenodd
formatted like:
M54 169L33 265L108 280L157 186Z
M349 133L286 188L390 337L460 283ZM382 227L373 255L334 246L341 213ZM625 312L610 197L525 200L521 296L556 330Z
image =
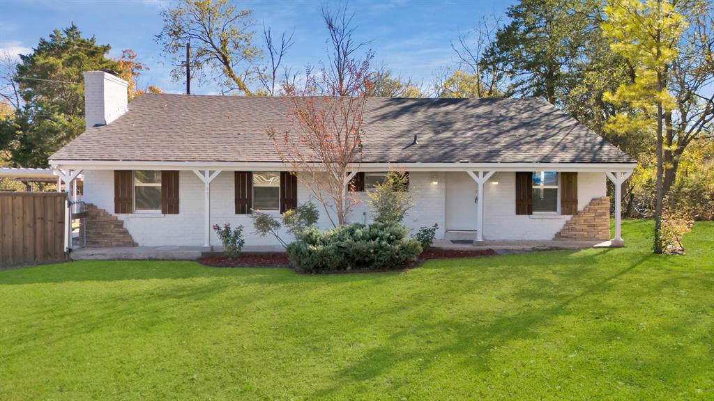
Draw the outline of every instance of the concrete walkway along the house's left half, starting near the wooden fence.
M222 246L213 247L221 252ZM203 246L128 246L116 248L80 248L69 253L71 260L194 260L211 251ZM281 246L246 246L246 253L285 252Z

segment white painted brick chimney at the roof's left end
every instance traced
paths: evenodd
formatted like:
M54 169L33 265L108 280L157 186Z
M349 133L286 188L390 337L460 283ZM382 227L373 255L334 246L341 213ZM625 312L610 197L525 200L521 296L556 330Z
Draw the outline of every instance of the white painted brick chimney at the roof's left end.
M86 128L104 126L129 110L129 83L104 71L84 73L84 121Z

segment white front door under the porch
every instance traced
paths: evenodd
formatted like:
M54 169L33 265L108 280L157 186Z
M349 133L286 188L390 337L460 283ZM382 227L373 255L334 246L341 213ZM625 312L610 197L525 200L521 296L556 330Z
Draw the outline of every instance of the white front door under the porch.
M466 171L445 175L446 229L476 231L476 181Z

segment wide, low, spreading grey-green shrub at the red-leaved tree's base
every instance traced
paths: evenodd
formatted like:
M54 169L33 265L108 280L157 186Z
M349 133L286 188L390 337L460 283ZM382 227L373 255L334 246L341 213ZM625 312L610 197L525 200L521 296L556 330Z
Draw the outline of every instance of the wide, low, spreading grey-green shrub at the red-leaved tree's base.
M407 234L408 228L393 223L341 225L326 231L308 228L288 245L288 258L310 273L401 268L422 250L421 243Z

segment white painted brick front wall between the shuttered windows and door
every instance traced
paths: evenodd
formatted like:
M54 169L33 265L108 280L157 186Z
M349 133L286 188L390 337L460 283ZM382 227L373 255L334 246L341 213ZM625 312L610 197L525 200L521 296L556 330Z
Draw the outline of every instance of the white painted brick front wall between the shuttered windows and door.
M436 173L436 184L432 183L434 173L410 173L410 191L414 195L415 205L404 223L412 232L422 226L438 223L437 238L443 238L446 215L445 174L461 173ZM496 179L498 185L489 182L484 188L484 239L551 239L570 218L560 215L516 215L516 173L497 173ZM250 216L234 213L233 186L232 171L223 171L211 183L211 224L243 225L246 245L277 245L274 238L261 238L253 233ZM192 171L181 171L179 190L178 215L119 215L139 245L203 245L203 182ZM371 215L367 211L366 195L360 196L362 202L353 208L348 220L369 223ZM579 173L578 209L582 210L590 200L600 196L605 196L605 175ZM306 202L310 198L308 189L298 184L298 203ZM84 171L84 200L113 213L114 172ZM321 208L321 205L317 205ZM324 210L320 212L318 225L321 228L331 227ZM285 233L283 235L284 238L290 239ZM213 230L211 244L220 244Z

